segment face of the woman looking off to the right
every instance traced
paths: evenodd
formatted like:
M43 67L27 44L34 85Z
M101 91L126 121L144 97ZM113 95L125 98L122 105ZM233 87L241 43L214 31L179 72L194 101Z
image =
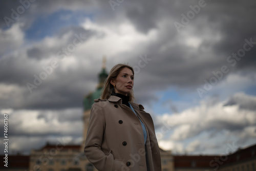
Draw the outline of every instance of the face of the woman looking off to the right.
M123 68L117 77L111 80L111 84L115 85L115 93L120 93L127 96L128 93L131 93L133 89L133 80L134 75L132 70L129 68Z

